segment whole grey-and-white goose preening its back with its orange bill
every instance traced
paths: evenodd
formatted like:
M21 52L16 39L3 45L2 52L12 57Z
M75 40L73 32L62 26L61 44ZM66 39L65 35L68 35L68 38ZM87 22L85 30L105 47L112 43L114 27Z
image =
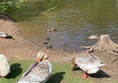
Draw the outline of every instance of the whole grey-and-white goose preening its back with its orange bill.
M38 61L29 67L18 83L45 83L52 73L52 65L47 59L47 54L39 51L37 54Z

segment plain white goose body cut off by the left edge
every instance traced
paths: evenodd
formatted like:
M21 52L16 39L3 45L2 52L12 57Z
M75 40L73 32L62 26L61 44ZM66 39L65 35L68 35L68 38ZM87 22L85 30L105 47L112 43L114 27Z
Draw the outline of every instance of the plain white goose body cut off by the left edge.
M0 77L5 77L10 73L10 66L7 58L0 54Z

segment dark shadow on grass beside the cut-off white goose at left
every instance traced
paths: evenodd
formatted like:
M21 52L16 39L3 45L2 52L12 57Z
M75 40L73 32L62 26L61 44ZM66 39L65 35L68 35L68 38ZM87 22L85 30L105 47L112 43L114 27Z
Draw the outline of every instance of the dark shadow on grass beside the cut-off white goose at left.
M22 69L20 68L20 64L14 63L10 66L10 73L6 76L7 79L16 78L19 74L22 73Z

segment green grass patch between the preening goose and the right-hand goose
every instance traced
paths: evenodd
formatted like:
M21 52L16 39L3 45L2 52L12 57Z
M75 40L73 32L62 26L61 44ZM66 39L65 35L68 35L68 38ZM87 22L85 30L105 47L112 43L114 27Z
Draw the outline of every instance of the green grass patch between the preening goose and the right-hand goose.
M52 63L53 64L53 74L47 83L95 83L91 79L84 80L79 77L83 74L80 72L72 71L71 65L67 63Z

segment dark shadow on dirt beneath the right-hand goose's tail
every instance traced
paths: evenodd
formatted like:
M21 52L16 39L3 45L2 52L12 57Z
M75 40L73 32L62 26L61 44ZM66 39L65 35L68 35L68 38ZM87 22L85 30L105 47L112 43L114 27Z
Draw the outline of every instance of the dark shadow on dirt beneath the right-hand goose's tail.
M102 70L98 71L96 74L91 74L89 76L93 77L93 78L109 78L109 77L111 77Z

